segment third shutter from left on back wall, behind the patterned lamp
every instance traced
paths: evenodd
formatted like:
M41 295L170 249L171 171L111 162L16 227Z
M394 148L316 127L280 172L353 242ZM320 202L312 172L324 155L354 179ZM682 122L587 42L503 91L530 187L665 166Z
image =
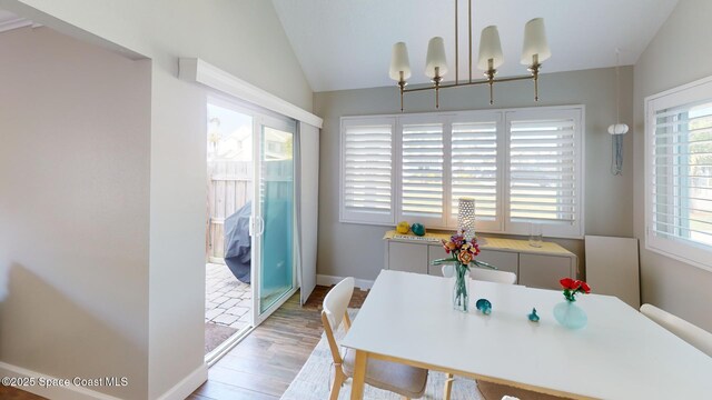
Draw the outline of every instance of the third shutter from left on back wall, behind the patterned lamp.
M497 122L454 122L451 140L453 218L458 199L468 197L478 221L497 220Z

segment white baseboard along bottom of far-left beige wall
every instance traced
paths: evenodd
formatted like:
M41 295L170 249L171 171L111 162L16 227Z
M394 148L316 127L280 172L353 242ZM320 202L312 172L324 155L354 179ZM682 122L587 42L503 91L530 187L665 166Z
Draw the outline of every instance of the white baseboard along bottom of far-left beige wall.
M58 378L30 371L28 369L1 361L0 376L2 376L3 378L8 377L26 379L28 380L28 384L18 386L18 389L52 400L121 400L113 396L101 393L96 390L75 386L73 383L71 383L71 384L69 386L41 386L40 381L53 381ZM34 384L29 384L30 382L34 382Z

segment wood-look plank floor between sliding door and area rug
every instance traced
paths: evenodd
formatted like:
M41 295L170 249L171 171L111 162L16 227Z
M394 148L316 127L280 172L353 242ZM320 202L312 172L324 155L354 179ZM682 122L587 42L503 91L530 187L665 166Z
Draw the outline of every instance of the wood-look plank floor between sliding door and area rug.
M322 301L332 288L316 287L304 307L299 292L218 361L208 381L188 400L276 400L287 390L322 338ZM349 307L360 308L368 292L356 289ZM0 386L0 399L42 400Z

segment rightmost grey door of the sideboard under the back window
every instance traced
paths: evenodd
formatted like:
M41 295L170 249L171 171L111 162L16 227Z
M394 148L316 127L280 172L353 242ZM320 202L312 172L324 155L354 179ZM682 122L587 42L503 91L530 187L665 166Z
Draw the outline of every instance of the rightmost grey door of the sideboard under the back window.
M520 284L541 289L561 289L558 280L572 277L570 257L520 254Z

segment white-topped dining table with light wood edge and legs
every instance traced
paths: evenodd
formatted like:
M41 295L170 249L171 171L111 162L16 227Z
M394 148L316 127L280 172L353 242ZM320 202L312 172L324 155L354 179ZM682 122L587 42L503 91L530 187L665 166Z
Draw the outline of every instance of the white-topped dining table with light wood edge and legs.
M561 291L471 281L464 313L452 290L452 279L380 271L342 341L356 350L352 399L369 359L574 399L712 399L712 358L615 297L580 294L589 323L571 330L553 316Z

